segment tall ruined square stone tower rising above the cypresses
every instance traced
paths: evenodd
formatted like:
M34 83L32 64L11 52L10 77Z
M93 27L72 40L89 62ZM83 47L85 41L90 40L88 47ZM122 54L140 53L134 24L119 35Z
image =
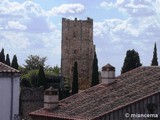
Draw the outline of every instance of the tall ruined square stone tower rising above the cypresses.
M79 89L90 87L93 45L93 19L69 20L62 18L61 72L72 83L74 62L78 64Z

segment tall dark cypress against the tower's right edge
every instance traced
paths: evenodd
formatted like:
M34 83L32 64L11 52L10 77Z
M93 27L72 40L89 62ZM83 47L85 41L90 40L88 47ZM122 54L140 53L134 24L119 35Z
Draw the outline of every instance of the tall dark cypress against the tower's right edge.
M91 87L99 84L99 72L98 72L98 60L96 52L94 53L93 65L92 65L92 81Z

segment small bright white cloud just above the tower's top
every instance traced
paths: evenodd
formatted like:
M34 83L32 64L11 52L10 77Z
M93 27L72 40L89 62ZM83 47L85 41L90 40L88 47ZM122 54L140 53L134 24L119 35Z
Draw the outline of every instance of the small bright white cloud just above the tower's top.
M82 4L62 4L58 7L53 7L48 14L51 16L58 14L75 14L81 13L85 10L85 6Z

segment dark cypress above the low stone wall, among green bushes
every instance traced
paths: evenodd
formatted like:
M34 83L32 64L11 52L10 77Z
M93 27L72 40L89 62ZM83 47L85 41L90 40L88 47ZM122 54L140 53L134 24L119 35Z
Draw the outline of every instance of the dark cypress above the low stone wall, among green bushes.
M38 72L38 86L45 86L46 82L46 76L44 73L43 66L40 66L39 72Z

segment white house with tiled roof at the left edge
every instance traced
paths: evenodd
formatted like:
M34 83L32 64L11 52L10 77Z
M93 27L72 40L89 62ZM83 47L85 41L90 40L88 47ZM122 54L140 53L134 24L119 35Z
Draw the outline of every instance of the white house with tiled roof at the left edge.
M0 62L0 120L19 115L19 71Z

